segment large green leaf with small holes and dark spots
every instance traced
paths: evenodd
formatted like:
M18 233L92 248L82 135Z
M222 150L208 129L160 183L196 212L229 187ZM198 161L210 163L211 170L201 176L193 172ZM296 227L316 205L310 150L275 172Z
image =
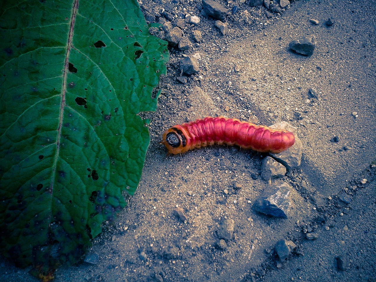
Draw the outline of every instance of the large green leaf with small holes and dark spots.
M137 188L166 72L136 0L0 8L0 241L48 276L76 262ZM48 279L47 279L48 280Z

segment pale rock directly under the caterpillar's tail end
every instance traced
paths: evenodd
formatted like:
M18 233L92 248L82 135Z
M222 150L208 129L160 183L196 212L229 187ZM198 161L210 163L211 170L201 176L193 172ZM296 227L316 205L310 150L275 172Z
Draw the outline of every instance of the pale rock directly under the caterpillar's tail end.
M283 164L288 171L298 167L302 161L303 146L302 141L300 141L299 137L296 135L296 127L291 126L291 124L287 123L286 121L281 121L280 123L273 124L270 127L293 132L295 136L295 144L282 153L269 153L269 155L273 159L276 159L276 161Z

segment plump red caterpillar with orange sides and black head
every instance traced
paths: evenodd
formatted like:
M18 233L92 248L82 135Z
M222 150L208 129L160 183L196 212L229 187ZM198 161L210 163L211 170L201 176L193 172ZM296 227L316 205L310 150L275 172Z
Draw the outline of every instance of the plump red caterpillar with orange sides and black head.
M236 118L205 117L166 129L162 142L168 154L184 153L208 145L240 146L257 152L280 153L295 143L287 130L256 125Z

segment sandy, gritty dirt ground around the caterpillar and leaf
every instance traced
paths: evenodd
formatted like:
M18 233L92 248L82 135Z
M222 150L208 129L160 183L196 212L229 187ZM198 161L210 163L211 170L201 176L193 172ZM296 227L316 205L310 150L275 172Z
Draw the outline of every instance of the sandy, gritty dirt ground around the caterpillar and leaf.
M151 143L138 190L93 240L94 264L62 267L56 281L376 281L375 2L298 1L270 19L264 6L220 3L230 9L225 35L198 1L141 3L149 21L166 6L199 16L184 32L200 30L203 41L171 48L158 109L144 114ZM312 56L291 52L290 41L311 34ZM177 82L179 60L196 53L200 71ZM166 128L208 115L296 127L301 164L282 178L291 187L288 218L253 208L269 186L261 177L267 154L214 146L166 156L158 144ZM176 207L188 220L174 215ZM231 219L223 244L218 231ZM280 239L296 244L282 262L274 250ZM36 281L28 271L1 259L0 280Z

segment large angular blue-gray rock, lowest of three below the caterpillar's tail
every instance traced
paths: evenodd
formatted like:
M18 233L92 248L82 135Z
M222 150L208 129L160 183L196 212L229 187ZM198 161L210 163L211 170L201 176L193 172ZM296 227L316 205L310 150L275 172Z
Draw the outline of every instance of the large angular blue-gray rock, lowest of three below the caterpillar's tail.
M291 187L285 182L276 182L255 200L253 207L262 214L287 218L290 215Z

